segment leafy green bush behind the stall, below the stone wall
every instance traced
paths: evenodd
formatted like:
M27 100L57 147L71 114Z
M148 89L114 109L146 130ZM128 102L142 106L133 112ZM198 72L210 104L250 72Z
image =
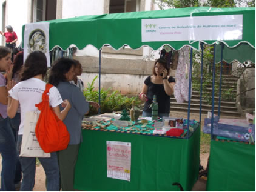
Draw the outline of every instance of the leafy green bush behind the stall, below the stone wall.
M87 88L84 91L84 96L87 101L99 102L99 91L95 90L94 83L98 76L95 76L92 83L87 84ZM132 101L135 101L135 105L140 104L138 97L128 98L123 96L119 91L113 91L111 88L101 89L101 113L111 113L113 111L121 111L126 109L127 111L132 108ZM90 112L88 115L98 114L98 111L90 106Z

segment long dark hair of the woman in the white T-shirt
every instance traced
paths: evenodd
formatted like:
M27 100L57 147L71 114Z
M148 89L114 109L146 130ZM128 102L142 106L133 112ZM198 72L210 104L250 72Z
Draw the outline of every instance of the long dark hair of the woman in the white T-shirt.
M21 81L33 78L38 74L42 74L44 78L47 73L47 59L41 51L33 51L27 56L24 64L24 70L21 74Z

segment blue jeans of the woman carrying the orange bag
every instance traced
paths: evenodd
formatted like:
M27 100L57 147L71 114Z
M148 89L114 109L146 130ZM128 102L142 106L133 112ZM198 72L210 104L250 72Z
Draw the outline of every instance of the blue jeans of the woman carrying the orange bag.
M18 136L18 151L21 152L22 135ZM46 175L47 191L59 191L59 164L56 153L51 153L50 158L38 158ZM23 173L21 191L32 191L35 184L36 158L19 157Z

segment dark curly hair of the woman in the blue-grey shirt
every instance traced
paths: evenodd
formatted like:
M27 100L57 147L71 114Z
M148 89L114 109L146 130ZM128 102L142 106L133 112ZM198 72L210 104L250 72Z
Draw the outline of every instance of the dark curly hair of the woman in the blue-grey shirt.
M75 61L69 58L61 58L55 61L50 70L48 82L54 86L58 86L60 82L66 82L65 73L69 72L72 66L75 66Z

